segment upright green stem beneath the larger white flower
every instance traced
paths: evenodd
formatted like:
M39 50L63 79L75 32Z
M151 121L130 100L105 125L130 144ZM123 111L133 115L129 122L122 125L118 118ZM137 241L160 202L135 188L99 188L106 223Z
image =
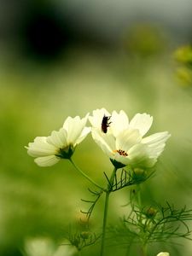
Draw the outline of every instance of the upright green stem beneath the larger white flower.
M113 189L113 182L114 182L116 171L117 169L114 168L109 180L110 184L108 184L108 189L105 190L106 196L105 196L104 216L103 216L103 222L102 222L102 247L101 247L100 256L104 255L105 236L106 236L106 227L107 227L107 219L108 219L108 201L109 201L109 195Z

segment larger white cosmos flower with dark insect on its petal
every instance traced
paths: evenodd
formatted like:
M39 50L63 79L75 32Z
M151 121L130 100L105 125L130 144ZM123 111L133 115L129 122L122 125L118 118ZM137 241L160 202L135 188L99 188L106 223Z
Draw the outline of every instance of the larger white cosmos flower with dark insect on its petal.
M108 117L107 132L102 131L103 116ZM105 108L93 111L89 117L92 127L92 137L102 150L117 166L154 166L157 158L165 148L170 134L167 131L143 136L148 132L153 117L147 113L137 113L129 122L125 112L108 113Z

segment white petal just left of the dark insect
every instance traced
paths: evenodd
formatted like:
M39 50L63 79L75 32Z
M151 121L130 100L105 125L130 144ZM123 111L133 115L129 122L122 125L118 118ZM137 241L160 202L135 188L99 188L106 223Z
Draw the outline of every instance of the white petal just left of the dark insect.
M111 114L105 108L93 110L93 115L89 117L90 124L97 128L98 130L102 129L102 119L103 116L111 116Z

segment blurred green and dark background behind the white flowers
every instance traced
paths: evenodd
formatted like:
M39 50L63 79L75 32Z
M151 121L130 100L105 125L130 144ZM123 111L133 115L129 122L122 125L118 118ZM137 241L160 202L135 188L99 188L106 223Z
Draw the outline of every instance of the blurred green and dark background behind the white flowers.
M130 118L153 115L151 132L172 137L143 186L143 201L191 207L192 87L177 78L173 57L192 43L191 10L191 0L0 1L0 255L23 255L31 237L60 244L84 218L81 198L89 199L90 183L67 160L36 166L24 148L58 130L68 115L102 107L124 109ZM98 183L112 170L91 136L73 159ZM129 189L113 195L109 223L119 222L128 200ZM103 201L93 229L102 226L102 207ZM148 255L191 255L191 241L177 242L155 244ZM98 250L96 244L83 255ZM108 252L119 255L122 248L112 242Z

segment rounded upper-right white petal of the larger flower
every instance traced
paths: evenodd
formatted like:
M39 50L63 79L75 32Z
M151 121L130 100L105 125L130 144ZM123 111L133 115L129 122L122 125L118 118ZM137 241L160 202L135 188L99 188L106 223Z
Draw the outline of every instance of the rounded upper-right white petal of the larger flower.
M140 134L145 135L153 123L153 117L147 113L137 113L130 122L130 128L138 129Z

